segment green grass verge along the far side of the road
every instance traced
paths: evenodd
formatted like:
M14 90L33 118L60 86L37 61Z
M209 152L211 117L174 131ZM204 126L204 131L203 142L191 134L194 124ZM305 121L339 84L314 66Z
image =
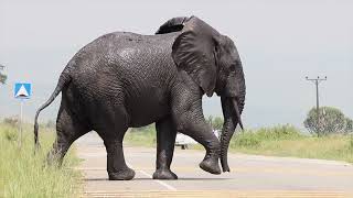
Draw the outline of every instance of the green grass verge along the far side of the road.
M156 146L154 128L133 129L127 133L126 142L131 145ZM200 144L190 147L203 150ZM353 135L315 138L303 134L292 125L277 125L238 132L231 140L229 152L353 163Z

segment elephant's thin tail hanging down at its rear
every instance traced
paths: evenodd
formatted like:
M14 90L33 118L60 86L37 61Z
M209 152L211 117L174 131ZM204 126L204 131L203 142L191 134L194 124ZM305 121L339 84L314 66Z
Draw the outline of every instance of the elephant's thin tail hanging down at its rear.
M38 139L38 130L39 130L39 125L38 125L38 117L40 116L40 112L45 109L49 105L51 105L54 99L56 98L56 96L62 91L62 89L67 86L71 81L71 76L68 73L68 68L66 67L63 73L61 74L56 88L53 91L52 96L46 100L45 103L43 103L36 111L35 117L34 117L34 146L35 150L39 148L40 143L39 143L39 139Z

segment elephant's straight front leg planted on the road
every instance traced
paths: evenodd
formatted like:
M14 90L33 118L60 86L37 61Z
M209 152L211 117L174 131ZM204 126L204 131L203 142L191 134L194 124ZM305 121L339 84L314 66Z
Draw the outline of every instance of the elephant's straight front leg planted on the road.
M170 170L172 163L176 129L171 118L165 118L156 123L157 131L157 161L153 179L178 179Z

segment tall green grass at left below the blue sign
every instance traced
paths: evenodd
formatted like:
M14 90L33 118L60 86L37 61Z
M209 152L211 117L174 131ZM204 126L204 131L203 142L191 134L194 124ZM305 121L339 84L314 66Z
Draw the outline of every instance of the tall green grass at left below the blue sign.
M77 197L82 193L78 158L71 150L62 167L46 166L45 156L54 142L54 133L40 129L41 151L33 154L32 125L24 127L21 148L18 129L0 123L0 197Z

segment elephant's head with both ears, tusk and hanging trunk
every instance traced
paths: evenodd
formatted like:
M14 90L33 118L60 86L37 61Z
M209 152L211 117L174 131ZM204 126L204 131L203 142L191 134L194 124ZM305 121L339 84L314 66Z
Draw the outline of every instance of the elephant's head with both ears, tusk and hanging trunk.
M221 136L221 164L229 172L227 150L245 101L245 79L242 62L233 41L220 34L196 16L174 18L157 34L180 32L172 45L172 57L179 69L185 70L208 97L221 96L224 124Z

